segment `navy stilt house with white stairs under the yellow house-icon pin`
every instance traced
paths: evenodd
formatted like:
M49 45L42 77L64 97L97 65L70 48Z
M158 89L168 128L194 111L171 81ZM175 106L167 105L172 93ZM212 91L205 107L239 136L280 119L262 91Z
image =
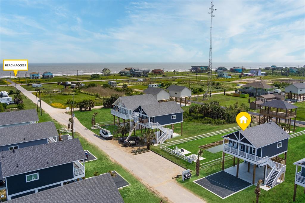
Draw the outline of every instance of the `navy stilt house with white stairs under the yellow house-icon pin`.
M253 165L253 184L256 184L257 167L264 167L262 180L266 187L272 188L285 180L285 163L290 135L276 123L264 123L222 137L224 138L222 170L224 170L224 156L227 153L234 156L233 166L235 166L235 158L237 158L236 177L239 176L239 160L242 159L248 163L248 173L250 165ZM279 160L278 156L281 154L285 154L285 158Z

